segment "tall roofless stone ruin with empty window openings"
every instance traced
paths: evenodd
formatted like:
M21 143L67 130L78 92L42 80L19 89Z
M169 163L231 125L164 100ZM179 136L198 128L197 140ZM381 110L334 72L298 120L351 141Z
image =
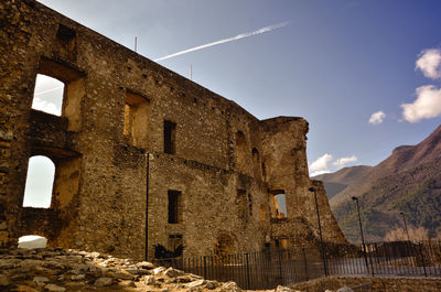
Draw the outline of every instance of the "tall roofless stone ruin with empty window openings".
M309 179L308 122L258 120L33 0L0 2L0 246L152 258L344 244ZM37 74L64 83L62 115L32 109ZM55 166L50 208L23 207L30 158ZM278 209L283 194L287 214Z

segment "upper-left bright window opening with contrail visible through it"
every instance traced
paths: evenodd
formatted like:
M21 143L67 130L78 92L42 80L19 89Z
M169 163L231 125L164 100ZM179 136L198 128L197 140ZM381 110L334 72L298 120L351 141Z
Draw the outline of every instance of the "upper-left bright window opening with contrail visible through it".
M37 74L32 108L46 113L62 116L64 83L53 77Z

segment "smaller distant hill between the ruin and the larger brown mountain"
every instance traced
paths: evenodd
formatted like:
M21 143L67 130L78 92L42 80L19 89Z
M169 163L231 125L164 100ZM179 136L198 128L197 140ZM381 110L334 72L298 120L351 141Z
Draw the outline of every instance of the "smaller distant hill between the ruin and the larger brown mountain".
M316 175L312 179L323 182L327 198L331 199L336 194L345 190L349 184L366 175L372 166L367 165L344 167L337 172Z

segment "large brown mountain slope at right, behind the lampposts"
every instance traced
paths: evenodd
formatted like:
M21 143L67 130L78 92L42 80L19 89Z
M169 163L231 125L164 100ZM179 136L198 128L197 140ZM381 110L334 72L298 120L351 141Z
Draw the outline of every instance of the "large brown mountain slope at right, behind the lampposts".
M402 227L400 212L409 225L424 227L431 237L440 235L441 126L417 145L396 148L389 158L330 199L346 238L355 241L359 240L359 230L352 196L359 197L363 225L370 241L383 240L388 231Z

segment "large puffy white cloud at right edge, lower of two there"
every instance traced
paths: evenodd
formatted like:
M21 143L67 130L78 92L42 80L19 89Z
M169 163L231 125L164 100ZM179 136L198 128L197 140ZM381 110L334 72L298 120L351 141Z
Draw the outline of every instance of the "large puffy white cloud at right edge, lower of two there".
M417 99L412 104L404 104L402 117L409 122L441 116L441 89L434 85L424 85L416 89Z

